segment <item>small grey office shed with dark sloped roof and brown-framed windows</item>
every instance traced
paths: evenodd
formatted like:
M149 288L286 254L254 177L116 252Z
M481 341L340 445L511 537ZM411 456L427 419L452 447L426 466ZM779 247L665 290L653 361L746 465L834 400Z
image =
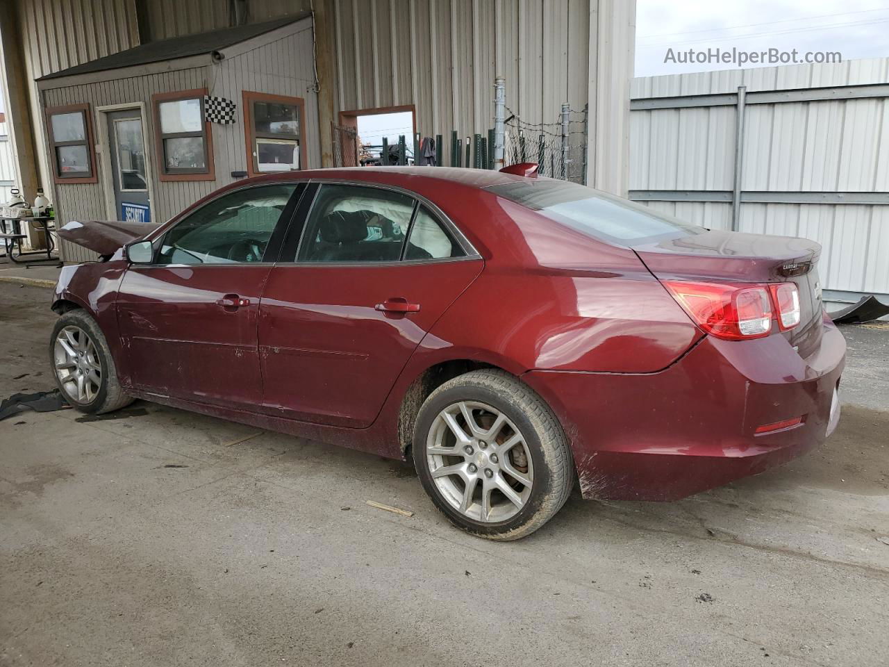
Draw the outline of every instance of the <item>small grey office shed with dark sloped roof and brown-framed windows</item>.
M285 17L38 79L57 211L162 222L237 178L320 166L312 50L311 18ZM216 100L236 108L213 116ZM66 261L93 257L66 241L61 250Z

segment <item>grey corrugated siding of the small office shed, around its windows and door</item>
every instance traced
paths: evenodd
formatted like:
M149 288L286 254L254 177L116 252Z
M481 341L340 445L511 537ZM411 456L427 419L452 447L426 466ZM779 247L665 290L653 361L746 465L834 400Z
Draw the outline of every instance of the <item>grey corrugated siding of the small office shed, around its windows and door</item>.
M232 171L246 169L247 149L244 138L242 97L244 90L292 95L305 100L306 141L308 165L320 165L318 115L312 60L311 20L300 21L292 34L274 42L262 44L250 51L227 57L206 68L188 68L172 72L132 76L92 84L52 88L44 92L47 106L89 103L93 122L96 108L126 102L143 102L146 109L145 139L152 156L153 215L158 223L168 220L201 197L234 179ZM213 95L235 100L237 120L232 125L212 125L215 181L159 181L159 158L155 154L155 126L151 96L158 92L174 92L193 88L208 88ZM98 138L97 138L98 141ZM60 184L56 186L57 219L61 224L70 220L104 220L106 212L104 175L99 182ZM62 243L66 261L94 259L94 255L76 245Z

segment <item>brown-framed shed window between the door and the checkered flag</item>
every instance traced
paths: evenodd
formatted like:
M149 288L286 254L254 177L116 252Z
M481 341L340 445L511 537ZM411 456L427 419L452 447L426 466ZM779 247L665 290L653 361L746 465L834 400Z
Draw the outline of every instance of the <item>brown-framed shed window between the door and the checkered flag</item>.
M212 181L213 146L204 89L152 95L161 181Z

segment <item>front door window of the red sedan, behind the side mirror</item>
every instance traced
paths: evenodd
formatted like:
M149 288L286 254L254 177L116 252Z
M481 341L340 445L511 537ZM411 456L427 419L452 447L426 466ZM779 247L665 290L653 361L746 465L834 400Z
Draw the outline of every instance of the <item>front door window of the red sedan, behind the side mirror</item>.
M262 261L295 185L236 190L191 213L161 242L158 264L232 264Z

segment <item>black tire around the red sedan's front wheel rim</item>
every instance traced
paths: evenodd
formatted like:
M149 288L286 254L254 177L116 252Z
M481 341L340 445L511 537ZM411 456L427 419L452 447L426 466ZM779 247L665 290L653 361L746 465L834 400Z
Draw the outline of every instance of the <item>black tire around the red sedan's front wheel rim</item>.
M60 374L56 371L56 339L60 333L70 326L76 326L82 330L95 348L95 358L100 365L100 386L99 390L88 400L78 399L68 390L69 382L62 382ZM121 389L120 383L117 382L117 371L114 359L111 357L111 351L108 350L108 341L102 333L95 319L82 309L68 310L64 315L59 317L55 326L52 327L52 336L50 338L50 367L52 368L52 377L56 381L56 385L65 397L65 400L78 412L86 414L105 414L119 410L128 406L135 398L128 396Z

